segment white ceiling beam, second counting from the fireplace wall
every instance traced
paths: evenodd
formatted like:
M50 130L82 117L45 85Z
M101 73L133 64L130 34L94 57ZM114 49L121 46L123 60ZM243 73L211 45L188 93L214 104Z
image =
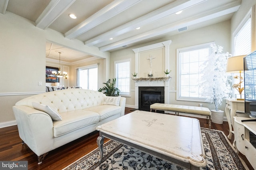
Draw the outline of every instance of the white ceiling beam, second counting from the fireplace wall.
M162 8L154 10L153 12L150 12L140 18L137 18L136 20L128 22L111 31L94 37L84 43L85 45L92 46L104 41L108 41L109 38L114 38L127 32L133 31L135 28L142 27L151 22L160 20L168 15L174 14L178 11L184 10L186 8L189 8L204 1L206 0L176 0L166 6L163 6Z

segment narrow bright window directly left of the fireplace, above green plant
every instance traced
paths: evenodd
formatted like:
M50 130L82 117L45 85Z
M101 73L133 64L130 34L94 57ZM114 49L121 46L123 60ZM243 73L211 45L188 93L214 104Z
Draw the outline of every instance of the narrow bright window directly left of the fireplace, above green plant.
M115 61L116 87L120 95L130 95L130 59Z

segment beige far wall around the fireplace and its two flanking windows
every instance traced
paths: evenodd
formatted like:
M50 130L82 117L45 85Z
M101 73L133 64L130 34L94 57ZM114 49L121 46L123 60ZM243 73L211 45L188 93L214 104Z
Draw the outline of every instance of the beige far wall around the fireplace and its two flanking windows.
M193 105L198 106L198 102L191 101L177 101L176 100L176 49L182 47L188 47L192 45L215 42L217 45L222 45L224 47L223 51L230 51L230 20L220 22L218 24L214 24L211 26L206 26L204 28L200 28L197 30L187 31L175 36L169 36L164 39L159 40L158 42L163 42L166 40L172 40L170 44L170 76L172 79L170 80L170 103L172 104L180 104L180 105ZM111 77L114 77L114 61L121 59L131 59L131 73L135 71L135 53L132 51L134 48L143 47L146 45L158 43L156 41L152 43L145 43L141 45L137 45L134 47L129 47L123 50L114 51L111 53ZM154 60L153 60L154 62ZM160 69L160 70L163 70ZM132 76L132 75L131 75ZM131 79L131 96L126 97L126 106L134 107L135 103L135 86L134 81ZM174 88L174 90L172 90ZM209 107L208 103L202 103L204 107ZM221 107L224 110L224 105Z

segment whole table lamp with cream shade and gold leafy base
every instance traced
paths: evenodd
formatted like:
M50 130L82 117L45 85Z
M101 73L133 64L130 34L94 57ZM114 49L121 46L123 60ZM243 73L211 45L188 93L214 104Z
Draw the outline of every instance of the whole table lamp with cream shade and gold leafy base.
M242 99L242 91L244 87L241 87L241 83L243 82L243 77L241 76L241 72L244 71L244 57L246 55L238 55L234 57L229 57L227 60L227 67L226 73L240 73L240 77L234 76L235 79L240 79L239 83L232 85L234 89L236 89L240 94L240 99L237 100L244 100Z

